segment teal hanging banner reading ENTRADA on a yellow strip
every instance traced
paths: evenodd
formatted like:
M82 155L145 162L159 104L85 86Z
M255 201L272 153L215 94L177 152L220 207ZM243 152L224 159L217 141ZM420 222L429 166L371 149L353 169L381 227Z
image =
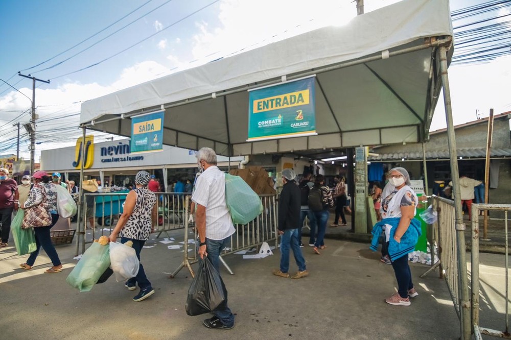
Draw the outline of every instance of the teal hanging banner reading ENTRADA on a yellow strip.
M248 139L316 135L314 76L249 91Z

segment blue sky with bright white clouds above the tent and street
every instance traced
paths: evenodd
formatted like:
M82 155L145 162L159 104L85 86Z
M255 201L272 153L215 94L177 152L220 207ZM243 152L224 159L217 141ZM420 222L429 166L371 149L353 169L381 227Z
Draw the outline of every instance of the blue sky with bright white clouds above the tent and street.
M397 1L365 0L365 10ZM451 10L456 10L482 2L451 0L450 4ZM191 15L207 5L210 6ZM156 9L158 6L161 7ZM141 8L71 51L25 70L100 32L138 7ZM144 15L151 10L154 11ZM188 15L191 16L183 19ZM37 149L62 147L74 143L80 135L81 101L198 66L241 48L254 48L329 25L334 20L347 20L353 15L355 6L351 0L3 0L0 1L0 79L30 98L31 80L17 76L17 71L51 80L51 84L37 84L40 118ZM70 60L41 70L72 57L140 16L143 18ZM97 66L60 77L109 58L151 35L154 36ZM509 104L507 110L511 110L511 99L506 102L501 98L505 96L504 89L511 86L509 65L506 59L450 68L455 124L474 120L476 109L484 114L495 106L496 113L500 113ZM15 153L15 148L9 149L15 128L7 123L19 115L21 123L28 122L29 114L22 111L30 105L25 96L0 82L0 155ZM440 101L438 106L441 105ZM435 114L433 129L445 126L442 115L442 112ZM101 133L97 136L99 141L108 137ZM3 151L7 149L8 152ZM28 156L26 143L22 143L21 155Z

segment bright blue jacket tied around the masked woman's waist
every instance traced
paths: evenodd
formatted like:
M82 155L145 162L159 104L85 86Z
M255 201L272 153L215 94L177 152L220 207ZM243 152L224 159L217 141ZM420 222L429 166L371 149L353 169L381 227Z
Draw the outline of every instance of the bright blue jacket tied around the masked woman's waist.
M371 246L369 248L376 252L383 227L386 224L392 226L392 229L390 229L390 240L388 244L388 256L391 261L411 253L415 249L419 236L422 234L421 222L419 222L416 218L413 218L410 222L410 226L403 236L401 236L401 242L398 243L394 240L394 233L396 233L396 229L398 228L399 220L401 220L401 217L384 218L375 224L373 231L371 232L371 234L373 234L373 240L371 241Z

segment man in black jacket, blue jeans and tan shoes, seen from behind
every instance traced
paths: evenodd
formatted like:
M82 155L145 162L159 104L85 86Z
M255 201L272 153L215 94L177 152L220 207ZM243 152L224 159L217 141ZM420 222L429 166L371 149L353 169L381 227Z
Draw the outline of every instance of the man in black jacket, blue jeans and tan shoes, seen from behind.
M299 279L309 275L305 267L305 259L298 244L298 228L300 228L300 189L294 179L292 169L282 171L284 187L278 200L278 233L281 235L281 268L273 271L273 275L289 277L289 248L293 250L298 272L291 276Z

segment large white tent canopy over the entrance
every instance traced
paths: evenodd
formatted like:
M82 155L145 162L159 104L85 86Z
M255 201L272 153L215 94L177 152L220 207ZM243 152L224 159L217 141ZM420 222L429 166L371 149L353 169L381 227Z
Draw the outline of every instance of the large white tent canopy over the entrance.
M165 144L226 156L419 142L442 86L436 50L452 36L447 1L404 0L87 101L80 122L130 136L130 116L163 106ZM318 135L247 142L247 90L309 75Z

